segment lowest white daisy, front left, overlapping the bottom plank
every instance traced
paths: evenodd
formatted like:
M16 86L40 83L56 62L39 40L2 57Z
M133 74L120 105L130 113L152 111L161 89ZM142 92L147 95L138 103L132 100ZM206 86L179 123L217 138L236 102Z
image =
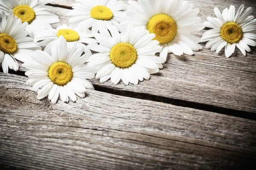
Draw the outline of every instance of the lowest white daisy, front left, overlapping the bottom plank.
M27 83L34 85L34 89L42 87L38 91L38 99L48 95L48 99L55 104L61 96L63 102L68 102L69 98L75 102L76 95L84 98L86 88L94 89L87 79L92 79L98 69L84 65L89 54L81 56L84 49L77 45L78 42L68 48L67 41L61 36L52 44L51 55L36 51L32 55L33 60L23 64L29 69L25 73L30 78Z

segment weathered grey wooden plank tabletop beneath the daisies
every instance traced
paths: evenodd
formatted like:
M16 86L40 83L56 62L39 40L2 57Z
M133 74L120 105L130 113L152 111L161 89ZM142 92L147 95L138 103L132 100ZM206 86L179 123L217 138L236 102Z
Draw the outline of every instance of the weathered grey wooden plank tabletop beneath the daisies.
M48 4L69 17L74 0ZM191 0L204 22L253 0ZM201 35L201 32L195 33ZM205 43L202 43L205 46ZM256 48L247 57L203 49L169 54L159 73L139 85L90 81L84 99L68 104L36 99L21 66L0 73L2 169L255 169Z

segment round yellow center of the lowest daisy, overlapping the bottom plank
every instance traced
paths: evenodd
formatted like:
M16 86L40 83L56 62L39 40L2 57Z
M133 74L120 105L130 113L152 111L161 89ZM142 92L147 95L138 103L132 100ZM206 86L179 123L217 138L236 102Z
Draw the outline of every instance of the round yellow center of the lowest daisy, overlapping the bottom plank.
M55 62L51 65L48 76L57 85L66 85L73 77L72 68L64 62Z

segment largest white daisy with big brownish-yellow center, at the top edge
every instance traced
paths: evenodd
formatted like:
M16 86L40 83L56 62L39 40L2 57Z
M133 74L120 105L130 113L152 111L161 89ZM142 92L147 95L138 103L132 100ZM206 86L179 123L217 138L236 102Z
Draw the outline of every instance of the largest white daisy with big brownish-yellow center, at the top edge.
M160 57L166 61L168 53L180 56L192 55L201 49L200 39L191 32L204 29L197 17L198 8L183 0L129 0L126 16L121 25L133 23L134 26L145 26L149 33L156 35L154 40L160 42Z

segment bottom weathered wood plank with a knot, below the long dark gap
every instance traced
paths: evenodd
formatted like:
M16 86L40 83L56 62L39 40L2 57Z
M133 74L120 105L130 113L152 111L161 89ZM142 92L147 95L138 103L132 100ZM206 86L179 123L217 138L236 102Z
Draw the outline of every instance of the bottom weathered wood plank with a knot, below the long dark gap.
M0 165L6 169L250 169L256 122L87 91L37 100L26 77L0 73Z

